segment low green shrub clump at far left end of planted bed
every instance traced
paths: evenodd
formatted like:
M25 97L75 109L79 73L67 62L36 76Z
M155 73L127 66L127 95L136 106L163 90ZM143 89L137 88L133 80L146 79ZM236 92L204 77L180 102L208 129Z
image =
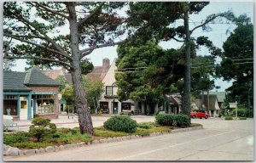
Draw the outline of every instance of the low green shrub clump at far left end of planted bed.
M11 134L3 134L3 143L12 145L14 143L21 143L29 141L29 135L27 132L16 132Z

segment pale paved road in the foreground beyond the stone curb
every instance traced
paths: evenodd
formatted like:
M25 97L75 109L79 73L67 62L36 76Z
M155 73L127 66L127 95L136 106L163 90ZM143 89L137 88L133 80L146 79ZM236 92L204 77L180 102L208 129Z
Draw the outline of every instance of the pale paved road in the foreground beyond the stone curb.
M44 155L4 157L21 161L253 160L253 120L192 120L204 129L102 143Z

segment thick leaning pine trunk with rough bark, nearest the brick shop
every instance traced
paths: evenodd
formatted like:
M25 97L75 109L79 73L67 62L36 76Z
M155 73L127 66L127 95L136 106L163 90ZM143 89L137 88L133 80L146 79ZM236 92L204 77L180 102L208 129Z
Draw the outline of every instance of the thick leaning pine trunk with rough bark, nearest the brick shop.
M69 10L69 29L73 59L73 69L71 70L71 75L73 82L73 92L75 95L75 106L79 115L79 129L82 134L89 133L90 135L94 135L90 110L88 108L82 82L79 55L79 31L74 3L68 3L67 8Z

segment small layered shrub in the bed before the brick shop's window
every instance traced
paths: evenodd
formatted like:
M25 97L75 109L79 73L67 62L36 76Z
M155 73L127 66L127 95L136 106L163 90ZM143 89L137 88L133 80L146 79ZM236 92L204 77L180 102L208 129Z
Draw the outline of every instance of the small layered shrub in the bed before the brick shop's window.
M46 118L34 118L32 120L32 126L29 127L29 134L37 138L37 142L40 142L42 138L55 132L56 125L50 123L50 120Z

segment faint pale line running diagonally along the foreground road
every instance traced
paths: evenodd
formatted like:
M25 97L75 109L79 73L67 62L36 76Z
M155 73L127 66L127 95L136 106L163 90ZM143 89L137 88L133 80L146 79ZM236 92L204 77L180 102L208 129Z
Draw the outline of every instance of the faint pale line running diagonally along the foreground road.
M136 154L136 155L129 155L129 156L125 156L125 157L122 157L122 158L119 158L119 159L116 159L116 160L126 160L126 159L130 159L132 157L136 157L136 156L139 156L139 155L147 155L147 154L150 154L150 153L154 153L158 150L163 150L163 149L169 149L169 148L172 148L172 147L176 147L178 145L183 145L183 144L186 144L186 143L193 143L193 142L197 142L197 141L201 141L203 139L207 139L207 138L212 138L212 137L217 137L217 136L220 136L220 135L224 135L224 134L227 134L227 133L231 133L231 132L223 132L223 133L219 133L219 134L216 134L216 135L211 135L209 137L205 137L205 138L197 138L193 141L187 141L187 142L184 142L184 143L177 143L177 144L174 144L174 145L170 145L170 146L167 146L167 147L164 147L164 148L160 148L160 149L153 149L153 150L148 150L146 152L142 152L142 153L139 153L139 154Z

